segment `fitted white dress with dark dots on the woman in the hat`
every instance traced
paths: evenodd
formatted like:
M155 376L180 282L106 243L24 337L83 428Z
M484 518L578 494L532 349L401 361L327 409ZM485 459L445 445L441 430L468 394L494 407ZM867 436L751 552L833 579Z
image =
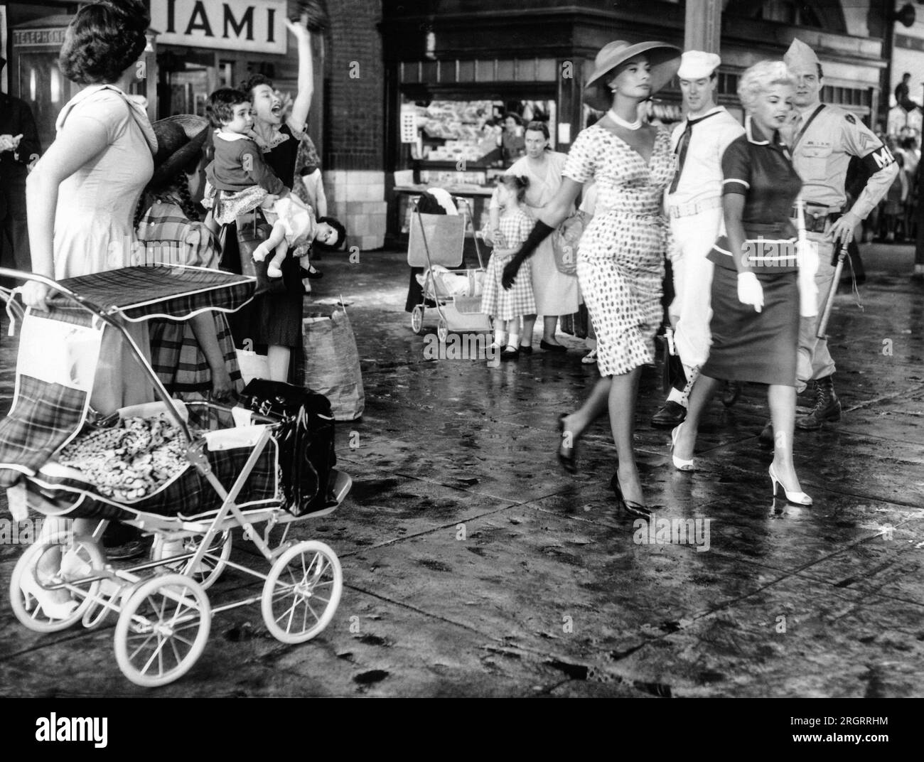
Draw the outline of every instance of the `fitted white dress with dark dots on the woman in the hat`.
M577 249L577 280L597 332L602 376L654 361L663 319L664 188L674 175L670 132L658 131L650 164L605 127L583 130L564 175L596 180L597 207Z

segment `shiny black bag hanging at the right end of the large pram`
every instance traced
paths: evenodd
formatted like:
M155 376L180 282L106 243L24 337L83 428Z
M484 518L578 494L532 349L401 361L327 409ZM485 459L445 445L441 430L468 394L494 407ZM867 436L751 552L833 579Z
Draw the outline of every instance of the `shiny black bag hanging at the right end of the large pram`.
M337 459L327 397L281 381L254 379L240 393L239 405L281 424L275 440L286 510L298 516L333 505Z

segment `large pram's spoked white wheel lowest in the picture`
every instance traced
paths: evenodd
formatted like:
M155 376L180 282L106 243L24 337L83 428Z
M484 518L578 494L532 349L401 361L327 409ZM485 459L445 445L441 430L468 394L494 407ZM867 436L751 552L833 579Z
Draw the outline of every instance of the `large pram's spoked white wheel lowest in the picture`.
M201 585L184 575L159 575L135 590L116 624L116 662L145 688L173 683L205 648L212 607Z

